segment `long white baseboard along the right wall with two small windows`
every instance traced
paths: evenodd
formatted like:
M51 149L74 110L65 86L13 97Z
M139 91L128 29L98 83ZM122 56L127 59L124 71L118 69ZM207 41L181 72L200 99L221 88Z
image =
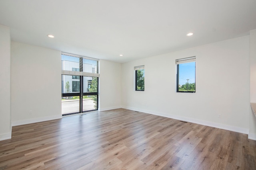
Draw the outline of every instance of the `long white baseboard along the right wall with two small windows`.
M187 121L187 122L190 122L190 123L196 123L196 124L200 124L200 125L216 127L216 128L224 129L224 130L228 130L228 131L244 133L244 134L247 134L247 135L249 134L249 129L246 129L246 128L224 125L224 124L210 122L210 121L204 121L204 120L200 120L200 119L193 119L193 118L190 118L190 117L182 117L182 116L179 116L179 115L170 115L170 114L166 114L166 113L161 113L161 112L156 112L156 111L151 111L151 110L145 110L145 109L138 109L138 108L134 108L134 107L122 106L122 108L129 109L129 110L134 110L134 111L140 111L140 112L144 112L144 113L149 113L149 114L152 114L152 115L158 115L158 116L162 116L162 117L168 117L168 118L177 119L177 120L181 120L181 121Z

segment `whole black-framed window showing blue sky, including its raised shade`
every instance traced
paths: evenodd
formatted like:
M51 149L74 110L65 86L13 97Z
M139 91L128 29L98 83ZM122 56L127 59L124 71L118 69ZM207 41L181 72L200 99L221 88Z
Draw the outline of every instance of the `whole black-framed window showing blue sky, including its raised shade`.
M196 57L176 60L177 92L196 92Z

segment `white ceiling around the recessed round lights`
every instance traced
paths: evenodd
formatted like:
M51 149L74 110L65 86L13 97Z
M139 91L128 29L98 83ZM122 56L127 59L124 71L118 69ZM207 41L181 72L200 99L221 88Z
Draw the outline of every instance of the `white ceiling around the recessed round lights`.
M256 0L0 0L0 24L13 41L125 63L249 35Z

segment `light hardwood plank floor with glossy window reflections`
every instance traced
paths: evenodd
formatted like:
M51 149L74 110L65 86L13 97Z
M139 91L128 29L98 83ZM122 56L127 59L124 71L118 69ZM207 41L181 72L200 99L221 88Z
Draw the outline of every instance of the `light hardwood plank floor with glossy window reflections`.
M12 128L0 170L256 170L248 135L127 109Z

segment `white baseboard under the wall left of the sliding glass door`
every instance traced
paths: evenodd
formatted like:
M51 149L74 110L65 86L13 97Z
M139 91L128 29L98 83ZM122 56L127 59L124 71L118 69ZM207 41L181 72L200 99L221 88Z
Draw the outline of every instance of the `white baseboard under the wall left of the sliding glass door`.
M37 122L41 122L41 121L48 121L48 120L54 120L54 119L62 119L62 115L54 115L54 116L47 116L47 117L38 117L38 118L34 118L34 119L13 121L12 126L26 125L26 124L30 124L30 123L37 123Z

